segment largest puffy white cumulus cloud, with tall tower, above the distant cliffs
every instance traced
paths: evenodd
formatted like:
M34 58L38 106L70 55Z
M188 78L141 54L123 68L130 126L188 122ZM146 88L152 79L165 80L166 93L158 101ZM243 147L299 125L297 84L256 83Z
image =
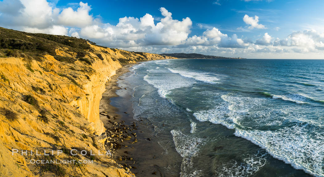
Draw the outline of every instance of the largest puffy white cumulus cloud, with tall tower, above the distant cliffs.
M192 26L189 17L182 21L172 18L172 13L164 7L160 8L163 18L156 25L154 18L146 14L140 19L135 17L123 17L114 26L107 24L97 24L81 28L81 36L90 39L97 39L102 43L116 43L122 47L131 45L180 45L187 38Z

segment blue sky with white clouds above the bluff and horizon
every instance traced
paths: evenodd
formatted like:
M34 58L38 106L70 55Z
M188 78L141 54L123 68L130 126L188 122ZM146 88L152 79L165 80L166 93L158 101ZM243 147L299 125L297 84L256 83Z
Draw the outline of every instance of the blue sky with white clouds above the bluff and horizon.
M150 53L324 59L322 0L0 0L0 26Z

